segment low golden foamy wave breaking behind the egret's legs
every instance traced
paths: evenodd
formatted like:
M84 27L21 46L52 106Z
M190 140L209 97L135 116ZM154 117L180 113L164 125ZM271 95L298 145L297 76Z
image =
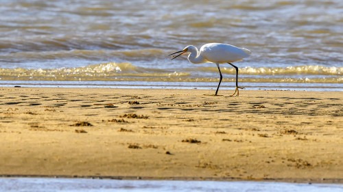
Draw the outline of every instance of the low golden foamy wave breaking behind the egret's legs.
M201 75L204 74L207 75ZM222 73L233 74L224 81L235 81L234 68L222 68ZM76 68L28 69L0 68L3 81L217 81L217 68L187 69L143 68L125 63L104 63ZM288 66L285 68L239 68L241 82L270 83L343 83L342 67Z

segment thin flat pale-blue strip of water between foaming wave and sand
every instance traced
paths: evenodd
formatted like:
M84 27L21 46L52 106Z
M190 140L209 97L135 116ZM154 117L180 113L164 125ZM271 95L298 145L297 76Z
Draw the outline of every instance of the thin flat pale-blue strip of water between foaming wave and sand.
M343 92L342 83L239 82L246 90ZM0 87L97 88L154 90L215 90L217 82L184 81L0 81ZM220 90L235 90L235 81L223 81Z

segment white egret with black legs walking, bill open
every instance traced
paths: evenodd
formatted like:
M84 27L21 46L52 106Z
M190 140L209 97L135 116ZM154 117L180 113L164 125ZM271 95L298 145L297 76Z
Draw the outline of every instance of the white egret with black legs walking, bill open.
M209 43L209 44L204 44L200 48L200 52L195 46L189 45L189 46L186 46L185 49L182 49L182 51L177 51L175 53L171 53L170 55L174 55L176 53L181 53L181 54L174 56L173 59L183 54L189 54L188 60L191 61L191 63L193 64L203 64L203 63L210 62L210 63L215 63L217 65L217 68L220 73L220 81L219 81L217 90L215 91L215 95L217 95L219 87L220 87L220 83L222 82L222 79L223 79L222 72L220 72L220 67L219 67L219 64L222 64L222 63L228 63L230 64L230 66L233 66L236 69L236 90L235 90L235 93L233 93L231 96L234 96L236 93L237 93L237 96L239 96L238 89L244 89L244 87L238 87L238 83L237 83L238 68L231 63L235 61L241 61L244 58L249 57L251 54L250 50L245 49L245 48L239 48L237 46L233 46L230 44Z

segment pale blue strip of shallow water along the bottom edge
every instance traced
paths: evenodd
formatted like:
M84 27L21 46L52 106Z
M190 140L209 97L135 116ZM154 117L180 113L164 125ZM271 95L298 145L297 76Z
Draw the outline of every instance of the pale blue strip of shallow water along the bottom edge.
M0 178L0 191L342 191L342 184L172 180Z

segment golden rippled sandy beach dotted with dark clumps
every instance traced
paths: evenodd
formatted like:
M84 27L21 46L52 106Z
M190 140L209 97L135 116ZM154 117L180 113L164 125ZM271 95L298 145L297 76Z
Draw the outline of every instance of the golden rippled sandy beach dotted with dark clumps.
M0 88L0 175L343 182L343 94Z

